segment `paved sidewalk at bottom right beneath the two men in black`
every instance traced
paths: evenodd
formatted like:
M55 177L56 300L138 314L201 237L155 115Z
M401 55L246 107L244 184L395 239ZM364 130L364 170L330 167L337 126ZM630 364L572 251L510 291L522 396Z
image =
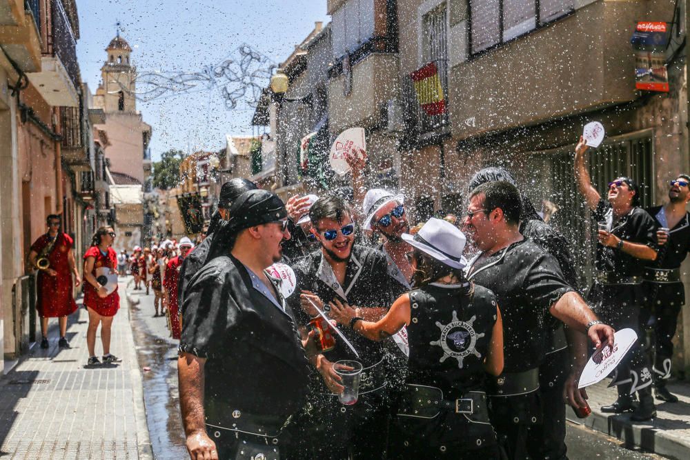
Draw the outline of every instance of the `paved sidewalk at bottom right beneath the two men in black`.
M678 403L664 403L655 399L657 417L649 422L630 421L630 414L604 414L601 406L615 401L615 388L607 388L610 379L587 388L592 414L578 419L567 409L567 417L575 423L616 437L627 446L637 446L649 452L673 459L690 459L690 384L670 381L669 390L678 396Z

